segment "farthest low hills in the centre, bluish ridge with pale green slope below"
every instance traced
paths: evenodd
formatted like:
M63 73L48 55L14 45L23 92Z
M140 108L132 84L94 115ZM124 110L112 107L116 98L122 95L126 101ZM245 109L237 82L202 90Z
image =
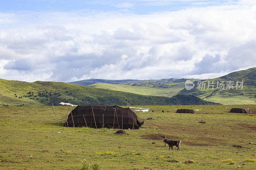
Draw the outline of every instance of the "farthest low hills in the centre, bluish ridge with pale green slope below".
M200 79L161 79L161 80L105 80L88 79L70 82L77 85L88 85L91 87L131 92L142 95L172 97L185 87L186 80L198 81ZM94 84L92 84L94 83Z

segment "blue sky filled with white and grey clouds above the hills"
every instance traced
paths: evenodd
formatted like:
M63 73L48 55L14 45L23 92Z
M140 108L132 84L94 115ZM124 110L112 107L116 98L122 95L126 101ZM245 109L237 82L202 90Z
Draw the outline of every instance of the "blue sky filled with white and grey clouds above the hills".
M255 0L0 0L0 78L215 78L256 67Z

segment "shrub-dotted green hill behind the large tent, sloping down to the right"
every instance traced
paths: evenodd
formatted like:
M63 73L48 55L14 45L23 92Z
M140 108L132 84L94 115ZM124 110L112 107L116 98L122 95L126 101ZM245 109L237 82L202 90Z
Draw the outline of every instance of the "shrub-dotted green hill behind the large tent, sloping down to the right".
M172 98L146 96L63 82L33 83L0 79L0 106L45 106L60 102L105 105L203 105L215 104L192 95Z

